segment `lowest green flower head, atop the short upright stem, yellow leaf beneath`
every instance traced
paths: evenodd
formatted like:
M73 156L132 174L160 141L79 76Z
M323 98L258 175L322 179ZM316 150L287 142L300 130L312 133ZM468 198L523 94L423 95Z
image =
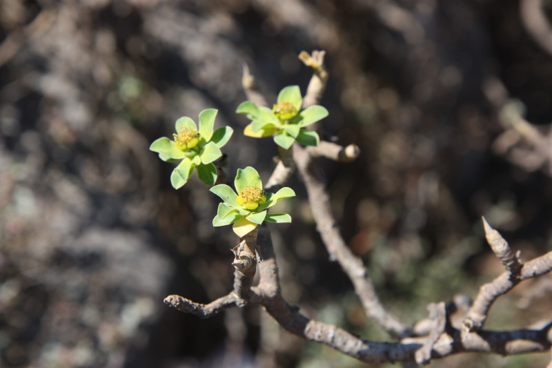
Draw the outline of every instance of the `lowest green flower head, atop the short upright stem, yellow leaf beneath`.
M280 200L295 197L293 189L284 187L276 193L263 191L259 173L250 166L243 170L238 168L234 186L237 193L226 184L210 188L210 191L224 201L219 203L217 215L213 218L213 226L233 224L234 232L239 238L243 238L263 221L291 222L291 216L287 213L266 213L266 209Z

